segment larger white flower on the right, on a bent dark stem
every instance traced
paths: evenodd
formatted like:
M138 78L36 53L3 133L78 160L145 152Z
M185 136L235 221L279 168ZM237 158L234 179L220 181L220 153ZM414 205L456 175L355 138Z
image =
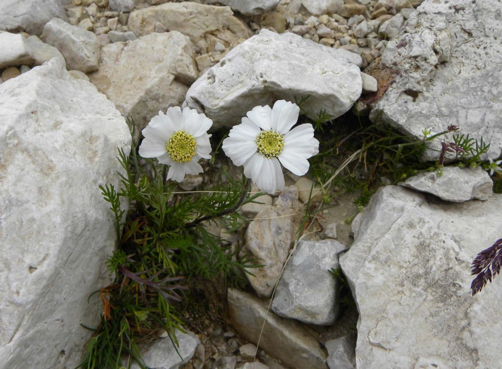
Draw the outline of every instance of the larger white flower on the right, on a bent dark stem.
M234 165L243 165L244 175L262 191L273 194L284 189L281 164L303 176L309 169L307 159L319 152L311 124L291 130L299 113L298 105L285 100L276 101L272 108L255 106L223 140L226 156Z

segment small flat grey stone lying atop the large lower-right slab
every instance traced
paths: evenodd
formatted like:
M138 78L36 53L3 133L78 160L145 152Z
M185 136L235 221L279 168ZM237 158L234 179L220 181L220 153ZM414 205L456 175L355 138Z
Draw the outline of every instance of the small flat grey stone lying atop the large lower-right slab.
M424 172L406 179L401 186L432 193L446 201L461 202L471 199L488 200L493 182L481 167L444 167L442 175L437 171Z

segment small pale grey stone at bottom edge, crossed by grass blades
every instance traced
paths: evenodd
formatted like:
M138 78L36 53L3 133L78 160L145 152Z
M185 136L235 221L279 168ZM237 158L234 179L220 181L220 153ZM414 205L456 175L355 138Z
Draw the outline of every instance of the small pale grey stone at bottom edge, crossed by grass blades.
M154 369L178 369L182 364L187 363L192 358L200 339L190 331L188 333L176 331L176 338L179 343L178 352L169 337L157 339L150 344L145 351L141 352L145 364ZM131 369L140 369L140 365L135 362L131 365Z

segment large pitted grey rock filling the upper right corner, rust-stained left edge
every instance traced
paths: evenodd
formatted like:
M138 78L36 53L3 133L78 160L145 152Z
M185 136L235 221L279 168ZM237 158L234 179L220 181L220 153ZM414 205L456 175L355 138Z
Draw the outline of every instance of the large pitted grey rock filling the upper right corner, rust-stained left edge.
M425 0L389 42L378 68L385 94L368 96L370 118L422 138L449 125L491 143L483 159L502 154L502 3ZM439 141L431 146L439 148ZM430 150L426 160L437 160Z

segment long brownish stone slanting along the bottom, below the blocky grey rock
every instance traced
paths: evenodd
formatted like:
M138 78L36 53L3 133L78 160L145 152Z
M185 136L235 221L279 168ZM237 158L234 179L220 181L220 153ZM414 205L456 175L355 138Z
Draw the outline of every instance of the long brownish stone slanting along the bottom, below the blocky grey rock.
M291 369L327 369L326 354L305 325L267 311L268 303L236 289L228 289L230 321L235 330L250 342L258 342L266 321L260 348Z

